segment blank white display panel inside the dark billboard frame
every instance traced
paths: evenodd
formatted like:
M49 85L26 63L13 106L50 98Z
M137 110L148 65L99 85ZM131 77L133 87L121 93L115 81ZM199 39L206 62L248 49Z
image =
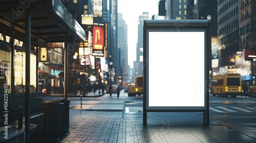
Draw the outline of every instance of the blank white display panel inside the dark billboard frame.
M205 106L205 31L148 32L148 107Z

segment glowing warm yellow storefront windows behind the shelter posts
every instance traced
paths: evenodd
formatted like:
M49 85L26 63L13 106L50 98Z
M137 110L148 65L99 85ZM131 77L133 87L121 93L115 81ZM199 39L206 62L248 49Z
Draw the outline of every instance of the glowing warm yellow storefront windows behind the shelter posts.
M8 85L8 93L20 93L25 92L26 85L26 53L25 47L23 47L23 41L15 39L15 50L14 54L11 53L11 43L10 37L0 33L0 94L4 94L4 85ZM19 45L18 45L19 44ZM37 88L36 84L36 48L30 54L30 91L35 92ZM11 68L11 56L14 56L14 68ZM13 71L12 71L13 70ZM14 73L14 76L11 76L11 73ZM12 79L13 78L13 79ZM11 85L11 81L14 81L14 86ZM13 89L12 89L13 88ZM13 90L11 92L11 90Z

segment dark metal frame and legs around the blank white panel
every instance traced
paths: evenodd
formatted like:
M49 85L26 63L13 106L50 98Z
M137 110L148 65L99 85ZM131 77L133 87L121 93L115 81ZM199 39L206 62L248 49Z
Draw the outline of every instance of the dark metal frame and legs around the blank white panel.
M147 125L147 112L203 112L203 124L209 125L209 25L210 20L144 20L143 27L143 125ZM204 36L204 106L148 106L148 39L149 32L164 30L194 31L203 30ZM161 57L163 58L163 57Z

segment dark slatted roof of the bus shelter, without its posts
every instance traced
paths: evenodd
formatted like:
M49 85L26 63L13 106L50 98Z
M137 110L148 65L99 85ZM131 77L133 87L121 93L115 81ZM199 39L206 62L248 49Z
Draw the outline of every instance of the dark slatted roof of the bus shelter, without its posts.
M25 40L26 10L31 12L31 42L85 41L86 34L75 16L60 0L1 0L0 33Z

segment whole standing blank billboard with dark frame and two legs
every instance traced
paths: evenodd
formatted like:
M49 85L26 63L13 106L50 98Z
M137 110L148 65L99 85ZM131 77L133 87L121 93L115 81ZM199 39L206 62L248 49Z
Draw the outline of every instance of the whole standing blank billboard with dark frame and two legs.
M144 20L143 125L147 112L203 112L209 125L209 20Z

